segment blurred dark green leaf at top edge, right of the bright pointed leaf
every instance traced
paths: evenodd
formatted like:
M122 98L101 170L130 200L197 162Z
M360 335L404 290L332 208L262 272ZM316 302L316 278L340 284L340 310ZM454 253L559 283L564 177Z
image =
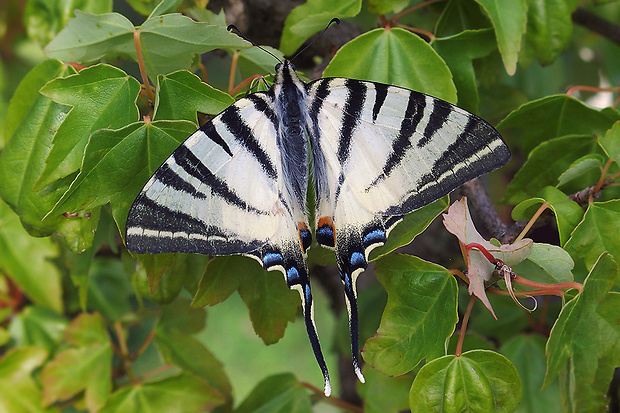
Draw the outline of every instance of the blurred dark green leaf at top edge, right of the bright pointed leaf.
M519 54L522 66L538 60L550 65L569 45L573 33L571 14L577 0L527 0L527 30Z

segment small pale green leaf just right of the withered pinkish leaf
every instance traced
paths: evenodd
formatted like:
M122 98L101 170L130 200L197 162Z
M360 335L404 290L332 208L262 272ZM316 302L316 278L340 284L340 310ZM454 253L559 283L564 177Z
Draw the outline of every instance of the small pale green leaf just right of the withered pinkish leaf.
M567 283L573 281L573 259L557 245L535 242L525 261L514 267L515 273L541 283Z

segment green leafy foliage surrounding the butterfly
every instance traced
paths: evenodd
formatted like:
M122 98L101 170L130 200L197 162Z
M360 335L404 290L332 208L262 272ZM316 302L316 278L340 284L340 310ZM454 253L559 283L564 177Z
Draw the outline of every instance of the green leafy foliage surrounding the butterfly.
M0 412L618 411L617 2L309 0L256 22L283 27L282 57L339 17L302 75L439 97L513 151L488 192L415 211L371 254L365 384L334 259L310 249L329 399L281 274L123 244L155 169L275 59L206 0L22 3L0 24ZM441 251L393 252L419 234Z

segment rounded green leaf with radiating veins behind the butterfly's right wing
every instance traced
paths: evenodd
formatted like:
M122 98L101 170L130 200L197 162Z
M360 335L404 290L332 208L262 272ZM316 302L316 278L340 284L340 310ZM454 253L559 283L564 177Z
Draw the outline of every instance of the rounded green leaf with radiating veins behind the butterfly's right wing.
M456 103L456 87L446 63L407 30L375 29L342 46L323 73L417 90Z

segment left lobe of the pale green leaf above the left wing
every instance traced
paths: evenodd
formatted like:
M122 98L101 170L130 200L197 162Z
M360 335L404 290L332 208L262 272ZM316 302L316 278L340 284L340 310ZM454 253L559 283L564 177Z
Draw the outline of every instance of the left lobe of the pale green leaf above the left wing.
M45 54L64 62L88 63L105 56L136 60L133 24L123 15L75 11L64 29L45 47Z

